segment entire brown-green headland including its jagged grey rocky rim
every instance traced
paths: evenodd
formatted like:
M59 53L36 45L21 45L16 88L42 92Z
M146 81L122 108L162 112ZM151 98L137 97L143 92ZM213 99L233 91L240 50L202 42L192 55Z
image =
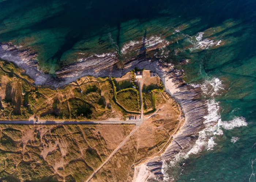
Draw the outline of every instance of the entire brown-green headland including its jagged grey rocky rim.
M166 44L167 42L161 42L155 45L155 49ZM23 136L30 129L23 130L25 125L4 125L12 128L10 130L14 133L20 132L20 138L13 139L6 134L7 139L14 143L19 141L23 145L23 148L17 145L18 148L14 146L7 151L21 151L20 161L24 161L24 155L29 155L30 159L32 156L26 146L37 148L40 165L47 166L49 175L60 181L67 181L69 178L81 181L147 181L150 178L163 180L163 161L172 160L195 145L197 133L205 128L204 116L208 115L208 107L207 101L201 99L200 87L184 83L182 71L154 56L154 46L149 54L150 59L146 59L143 54L128 58L121 63L121 68L115 53L95 55L60 69L56 72L56 77L53 77L39 71L35 61L36 54L29 50L19 50L11 44L1 44L1 119L10 123L11 120L28 118L27 120L33 120L36 124L27 127L31 131L38 131L35 133L37 139L24 141ZM138 71L142 72L142 78L136 79L135 74ZM150 72L154 73L152 78ZM57 125L44 126L50 120L55 123L49 124ZM113 134L108 139L102 138L103 131L81 129L87 125L77 125L78 130L71 132L66 128L69 124L63 125L58 120L93 122L93 127L96 128L111 127ZM96 124L97 120L102 122ZM104 125L104 121L110 123ZM115 124L111 126L111 122ZM76 123L72 124L72 127L76 127ZM18 126L22 127L17 129ZM128 132L109 150L109 142L116 140L116 130L120 130L117 127L121 126L129 127L125 129ZM48 128L47 131L44 128ZM7 129L3 128L3 133L5 130ZM55 130L61 132L52 134ZM53 147L53 143L56 145L57 139L62 140L77 132L81 132L82 137L75 142L79 150L72 159L67 159L68 153L73 153L72 149L61 147L60 144L57 149L56 146ZM91 136L94 132L98 133L98 139ZM43 141L46 136L54 138ZM93 142L92 139L94 143L90 143ZM97 148L99 141L105 143L105 153ZM82 143L87 143L88 146L81 148ZM40 148L41 145L46 147ZM48 154L45 154L46 148ZM62 153L65 150L65 154ZM55 156L53 162L46 160L47 156L57 155L58 151L60 155ZM88 161L89 154L85 155L87 151L91 161ZM95 163L96 159L98 162ZM17 170L20 161L15 164ZM86 172L79 171L78 174L73 169L74 163L76 166L85 165L83 168ZM31 167L31 162L27 167L29 166ZM13 170L8 173L25 179L21 171ZM29 175L26 179L31 180L32 173L27 174ZM38 178L43 177L44 175Z

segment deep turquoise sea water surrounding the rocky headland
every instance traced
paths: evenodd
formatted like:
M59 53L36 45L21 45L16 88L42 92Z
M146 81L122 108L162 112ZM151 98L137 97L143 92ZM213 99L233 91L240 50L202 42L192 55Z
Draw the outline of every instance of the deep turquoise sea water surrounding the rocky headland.
M222 128L213 150L181 160L167 170L169 176L177 181L255 181L255 1L0 0L0 42L31 47L50 74L92 54L117 51L125 59L121 48L141 40L145 31L147 37L171 42L159 54L184 70L187 83L221 80L218 91L206 98L218 102L223 122L237 116L248 123ZM204 32L200 41L199 32ZM206 39L215 46L207 46ZM180 65L183 59L190 64ZM239 139L232 143L232 137Z

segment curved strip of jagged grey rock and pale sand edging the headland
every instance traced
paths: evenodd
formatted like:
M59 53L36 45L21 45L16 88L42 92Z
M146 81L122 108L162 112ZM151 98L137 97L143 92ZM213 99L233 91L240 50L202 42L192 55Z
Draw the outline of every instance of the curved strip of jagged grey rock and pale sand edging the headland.
M185 122L180 130L173 136L172 142L167 146L161 157L150 159L140 166L144 166L145 174L138 176L139 166L135 167L133 181L146 181L149 177L162 181L164 174L162 172L163 161L174 159L181 152L188 151L195 145L197 137L195 135L205 128L204 116L208 115L206 100L200 99L202 90L200 87L193 87L185 84L182 80L182 71L173 69L172 65L162 62L153 57L150 60L142 57L127 59L122 70L118 70L116 63L118 57L116 54L107 54L102 56L91 56L82 62L71 64L63 70L57 71L57 77L44 74L39 71L38 64L35 62L37 54L30 53L29 50L20 51L11 44L0 44L0 58L13 62L26 71L36 85L48 85L52 87L61 87L71 83L83 76L115 76L121 77L126 72L138 68L155 71L163 80L165 90L174 97L180 104L185 115Z

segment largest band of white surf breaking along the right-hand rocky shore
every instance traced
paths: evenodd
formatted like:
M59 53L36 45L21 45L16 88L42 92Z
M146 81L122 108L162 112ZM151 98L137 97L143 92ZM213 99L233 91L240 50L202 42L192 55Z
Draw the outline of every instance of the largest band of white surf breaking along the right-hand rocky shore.
M198 85L192 85L197 87ZM175 157L167 163L163 161L162 174L164 175L164 181L175 181L172 176L169 176L165 171L170 167L177 166L177 163L182 159L189 158L191 154L197 154L204 149L213 150L213 148L217 145L215 143L215 139L217 139L217 135L223 135L223 131L221 129L231 130L235 127L246 126L245 118L243 117L235 117L231 121L222 122L221 115L219 113L219 102L216 102L214 99L207 100L208 106L208 115L204 116L204 124L206 128L199 132L199 138L196 140L195 145L190 149L187 153L185 151L181 151ZM235 143L239 138L232 137L231 142Z

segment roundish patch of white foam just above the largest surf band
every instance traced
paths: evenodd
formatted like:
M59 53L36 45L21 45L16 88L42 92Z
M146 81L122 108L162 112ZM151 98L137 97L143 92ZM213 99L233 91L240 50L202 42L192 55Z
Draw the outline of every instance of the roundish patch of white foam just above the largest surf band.
M202 91L206 95L219 95L221 90L224 90L222 86L222 81L216 77L212 79L206 79L202 84Z

